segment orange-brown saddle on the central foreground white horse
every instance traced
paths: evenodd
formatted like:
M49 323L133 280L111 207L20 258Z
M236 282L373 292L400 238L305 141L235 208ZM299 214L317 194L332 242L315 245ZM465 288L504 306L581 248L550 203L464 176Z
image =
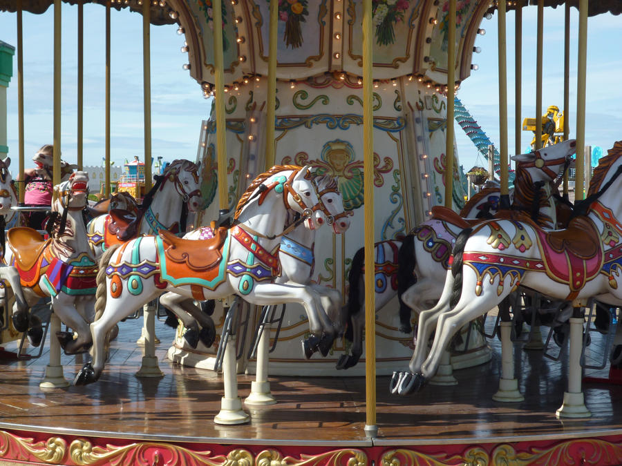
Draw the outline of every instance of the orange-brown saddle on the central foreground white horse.
M227 229L214 230L214 237L207 240L185 240L170 231L158 231L164 242L164 255L167 260L185 264L194 271L205 271L218 265L222 260L223 244L227 239Z

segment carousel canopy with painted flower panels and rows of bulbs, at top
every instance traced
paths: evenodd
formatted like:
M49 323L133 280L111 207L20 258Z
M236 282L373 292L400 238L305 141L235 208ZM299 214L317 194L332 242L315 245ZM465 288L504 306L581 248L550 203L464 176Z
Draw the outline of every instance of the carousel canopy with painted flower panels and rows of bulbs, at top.
M569 1L576 6L578 0ZM95 3L104 5L106 2ZM545 6L556 7L563 3L563 0L545 0ZM23 0L22 8L42 13L51 4L50 0ZM376 79L413 75L446 84L447 4L446 0L378 0L373 3ZM113 0L111 6L142 13L139 0ZM267 75L269 6L266 0L222 1L223 23L218 28L223 31L225 83ZM16 8L17 0L0 0L0 10L15 11ZM516 8L516 2L508 2L508 8ZM622 2L592 0L589 9L590 15L619 14ZM489 0L458 1L457 81L471 72L473 43L484 14L490 10ZM180 32L187 41L190 73L204 88L209 88L214 82L211 0L151 0L150 11L153 24L180 24ZM361 15L360 1L279 1L277 79L306 79L323 72L361 75Z

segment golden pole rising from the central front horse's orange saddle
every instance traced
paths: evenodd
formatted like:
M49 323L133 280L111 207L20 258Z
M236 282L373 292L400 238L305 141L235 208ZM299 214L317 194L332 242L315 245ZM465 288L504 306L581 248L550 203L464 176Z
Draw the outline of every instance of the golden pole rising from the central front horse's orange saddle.
M274 1L273 3L276 3ZM223 12L221 0L212 1L212 11L214 12L214 87L216 92L216 154L218 157L218 198L220 200L220 210L229 208L227 200L227 139L225 125L225 79L223 65Z

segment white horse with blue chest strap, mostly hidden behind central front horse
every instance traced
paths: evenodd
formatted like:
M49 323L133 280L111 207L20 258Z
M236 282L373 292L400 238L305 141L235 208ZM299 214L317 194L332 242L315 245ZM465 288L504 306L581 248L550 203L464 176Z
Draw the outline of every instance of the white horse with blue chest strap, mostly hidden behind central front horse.
M337 182L328 175L315 175L312 180L320 201L317 205L326 215L326 223L332 226L335 234L343 233L350 226L350 220L347 217L351 213L343 210L343 196L339 192ZM294 220L291 219L291 221ZM326 356L334 338L343 327L343 319L340 317L341 293L333 288L314 284L310 281L314 263L315 232L315 229L299 225L281 237L278 256L281 275L274 280L275 283L279 284L307 285L319 293L323 312L317 316L310 316L310 320L321 322L323 336L320 340L313 338L305 342L305 354L308 358L317 349ZM211 237L214 237L214 229L211 226L203 226L186 233L184 236L187 240L204 240ZM215 336L214 322L194 304L194 300L169 292L160 296L160 304L180 318L186 328L184 338L191 347L196 348L198 340L206 347L211 346ZM319 309L319 311L321 310ZM199 325L202 327L200 330L198 329Z

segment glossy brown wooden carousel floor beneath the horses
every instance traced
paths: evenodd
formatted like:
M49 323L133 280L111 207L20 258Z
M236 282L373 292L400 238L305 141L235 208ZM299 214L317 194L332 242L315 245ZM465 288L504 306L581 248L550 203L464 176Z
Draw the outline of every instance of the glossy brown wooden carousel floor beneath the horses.
M157 356L163 378L140 379L142 348L135 343L142 320L120 324L111 362L100 381L87 387L40 389L48 353L36 360L0 360L0 429L45 431L113 438L246 445L426 445L498 443L622 434L622 387L585 385L592 417L558 420L566 387L565 358L554 362L542 351L516 351L516 373L525 401L491 400L498 387L500 354L491 340L491 362L455 371L459 385L428 385L405 398L388 394L388 378L377 378L378 437L366 439L364 378L271 378L279 400L247 409L247 425L218 426L223 381L217 374L173 364L165 354L173 330L156 322ZM594 336L592 360L601 358ZM15 344L7 344L12 349ZM82 356L63 356L65 377L82 367ZM589 371L588 371L589 372ZM589 375L606 376L606 370ZM252 376L238 378L247 396Z

